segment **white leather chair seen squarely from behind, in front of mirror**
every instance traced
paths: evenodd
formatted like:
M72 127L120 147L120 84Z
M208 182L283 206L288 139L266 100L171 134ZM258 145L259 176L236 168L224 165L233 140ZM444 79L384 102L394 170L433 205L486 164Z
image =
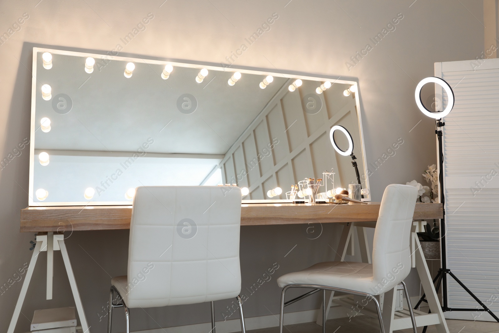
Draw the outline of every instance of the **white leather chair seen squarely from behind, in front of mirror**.
M111 280L114 308L164 307L237 298L241 292L241 189L235 186L142 186L133 200L128 270ZM116 300L114 293L117 294Z

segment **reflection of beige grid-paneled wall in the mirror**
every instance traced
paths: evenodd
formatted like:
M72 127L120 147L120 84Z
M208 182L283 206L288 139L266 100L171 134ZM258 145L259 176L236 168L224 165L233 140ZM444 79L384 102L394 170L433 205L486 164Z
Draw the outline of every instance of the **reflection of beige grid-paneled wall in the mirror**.
M303 80L299 88L290 91L292 82L289 79L281 86L228 151L221 164L224 182L248 187L250 199L269 199L267 191L279 186L282 194L272 199L286 199L285 192L292 184L304 178L322 178L322 172L333 168L335 187L348 188L348 184L357 183L352 159L337 153L329 138L331 127L342 125L352 136L365 188L356 99L353 93L344 94L351 85L333 83L317 94L317 81ZM334 138L340 149L348 149L342 132L335 131Z

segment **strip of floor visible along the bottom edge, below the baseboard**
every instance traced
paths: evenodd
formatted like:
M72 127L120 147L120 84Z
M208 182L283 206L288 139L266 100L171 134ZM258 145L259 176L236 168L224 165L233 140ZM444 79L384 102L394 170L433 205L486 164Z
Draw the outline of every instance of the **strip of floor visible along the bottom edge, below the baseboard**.
M379 322L374 318L362 318L363 316L352 318L341 318L336 320L328 320L326 323L327 333L376 333L379 331ZM491 322L473 322L473 321L460 321L460 320L447 320L449 333L499 333L499 323ZM418 328L421 333L423 328ZM249 331L250 333L276 333L279 332L278 328L269 328L262 330ZM315 323L305 323L288 325L284 328L285 333L322 333L322 327ZM412 329L404 331L395 331L397 333L413 332ZM427 333L436 333L435 326L429 326Z

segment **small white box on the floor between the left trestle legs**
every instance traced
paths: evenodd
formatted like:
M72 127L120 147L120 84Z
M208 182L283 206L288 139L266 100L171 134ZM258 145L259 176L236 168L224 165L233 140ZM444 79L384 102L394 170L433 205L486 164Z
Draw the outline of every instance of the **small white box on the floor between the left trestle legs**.
M35 310L30 330L42 333L76 333L74 307Z

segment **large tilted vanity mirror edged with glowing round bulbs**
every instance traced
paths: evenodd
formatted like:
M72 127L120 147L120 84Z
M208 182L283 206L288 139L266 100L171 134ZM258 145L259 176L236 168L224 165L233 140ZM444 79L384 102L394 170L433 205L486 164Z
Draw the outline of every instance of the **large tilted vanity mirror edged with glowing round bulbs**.
M354 81L43 48L33 73L30 206L131 205L143 185L288 199L331 170L328 190L369 188Z

